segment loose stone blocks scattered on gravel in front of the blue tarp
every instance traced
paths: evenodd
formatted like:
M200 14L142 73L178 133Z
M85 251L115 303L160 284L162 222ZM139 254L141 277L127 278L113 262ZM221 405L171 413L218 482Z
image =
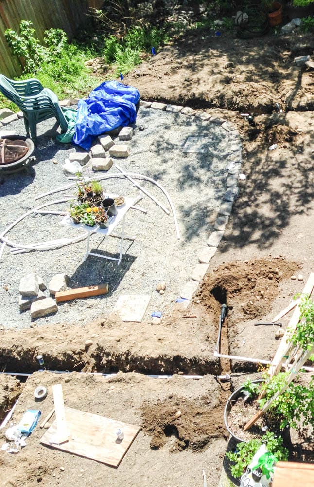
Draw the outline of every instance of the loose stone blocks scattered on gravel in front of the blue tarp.
M133 137L132 127L123 127L111 131L112 136L118 135L117 144L111 135L100 135L98 143L91 147L90 152L71 152L69 159L66 159L63 169L66 173L76 174L81 172L82 167L91 161L91 167L94 171L108 171L112 164L112 157L126 158L129 156L127 144L121 144L131 140Z

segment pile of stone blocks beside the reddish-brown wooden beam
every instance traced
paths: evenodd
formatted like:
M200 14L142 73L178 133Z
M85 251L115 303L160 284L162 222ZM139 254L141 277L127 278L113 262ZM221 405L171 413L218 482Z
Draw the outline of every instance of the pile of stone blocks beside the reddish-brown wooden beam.
M58 291L67 289L69 276L67 274L56 274L49 283L50 296L44 293L47 287L42 278L36 274L27 274L22 277L19 284L19 309L20 311L31 310L32 318L41 318L58 311L58 305L52 296Z

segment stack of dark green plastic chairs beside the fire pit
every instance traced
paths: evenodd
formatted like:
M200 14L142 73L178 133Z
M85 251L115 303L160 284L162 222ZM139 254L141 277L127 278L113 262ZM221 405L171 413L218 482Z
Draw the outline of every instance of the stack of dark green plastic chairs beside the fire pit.
M34 142L37 139L37 123L48 118L55 117L61 131L67 131L68 124L57 95L44 88L38 79L14 81L0 75L0 91L23 112L26 135L29 137L31 132Z

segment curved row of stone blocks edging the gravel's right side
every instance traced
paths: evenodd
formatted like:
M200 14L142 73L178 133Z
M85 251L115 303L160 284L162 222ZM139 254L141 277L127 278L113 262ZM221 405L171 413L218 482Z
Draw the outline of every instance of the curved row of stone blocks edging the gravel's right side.
M229 216L231 215L233 202L239 194L238 175L242 167L242 143L239 132L236 126L224 118L209 115L206 112L196 112L190 107L182 107L178 105L167 105L166 103L148 102L140 100L140 106L144 108L153 108L155 110L165 110L171 113L182 113L186 116L195 116L202 121L209 121L216 125L220 125L229 136L230 140L230 154L227 157L227 190L220 206L216 221L214 223L214 231L209 235L206 246L202 248L198 255L198 264L194 267L191 274L190 281L183 286L180 297L186 301L179 304L181 308L186 308L192 300L200 281L208 272L209 263L215 255L218 245L224 235ZM205 243L204 243L205 244Z

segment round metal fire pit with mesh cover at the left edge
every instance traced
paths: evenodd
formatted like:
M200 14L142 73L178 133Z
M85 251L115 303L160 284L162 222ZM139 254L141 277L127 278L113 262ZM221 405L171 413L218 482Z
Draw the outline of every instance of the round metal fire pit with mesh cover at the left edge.
M12 174L27 168L34 148L33 141L22 135L0 138L0 172Z

